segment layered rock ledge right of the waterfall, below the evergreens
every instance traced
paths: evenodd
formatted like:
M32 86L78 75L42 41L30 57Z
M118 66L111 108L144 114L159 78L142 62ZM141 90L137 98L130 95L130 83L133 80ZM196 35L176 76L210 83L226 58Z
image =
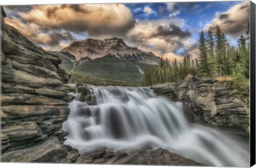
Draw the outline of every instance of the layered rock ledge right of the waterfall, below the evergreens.
M190 122L250 133L249 105L236 95L232 81L196 76L152 86L158 95L182 102Z

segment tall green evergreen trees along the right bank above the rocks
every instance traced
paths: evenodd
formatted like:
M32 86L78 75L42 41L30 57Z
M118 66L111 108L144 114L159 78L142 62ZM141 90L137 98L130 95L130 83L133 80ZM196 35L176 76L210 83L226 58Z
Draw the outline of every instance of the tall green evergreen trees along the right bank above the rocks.
M231 76L235 87L249 91L250 75L250 23L243 35L237 40L238 46L230 45L226 35L217 25L201 31L199 38L199 57L190 60L186 55L183 62L177 59L171 63L167 58L157 67L144 69L142 86L168 82L178 82L190 75L207 74L210 77Z

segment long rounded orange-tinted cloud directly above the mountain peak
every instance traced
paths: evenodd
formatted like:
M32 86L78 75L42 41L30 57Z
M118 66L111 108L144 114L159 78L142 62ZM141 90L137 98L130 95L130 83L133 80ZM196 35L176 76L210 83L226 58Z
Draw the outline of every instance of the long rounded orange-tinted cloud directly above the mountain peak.
M34 5L18 15L27 23L89 34L122 34L135 24L131 11L123 4Z

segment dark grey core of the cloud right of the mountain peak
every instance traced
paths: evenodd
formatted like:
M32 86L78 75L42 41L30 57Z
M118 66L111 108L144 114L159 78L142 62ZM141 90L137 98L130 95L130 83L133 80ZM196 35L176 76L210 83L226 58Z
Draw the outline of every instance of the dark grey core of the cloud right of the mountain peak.
M158 26L157 32L153 34L153 36L176 36L179 38L187 38L191 36L191 33L188 30L182 31L179 26L171 24L168 27L163 27L162 25Z

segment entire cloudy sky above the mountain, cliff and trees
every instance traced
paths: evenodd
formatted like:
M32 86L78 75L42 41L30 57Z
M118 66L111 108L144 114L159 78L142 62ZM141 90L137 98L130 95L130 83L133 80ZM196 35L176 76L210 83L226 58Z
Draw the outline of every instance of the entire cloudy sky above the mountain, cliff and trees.
M249 1L4 6L5 22L46 51L86 38L124 42L173 61L198 57L200 32L219 25L231 45L245 35Z

